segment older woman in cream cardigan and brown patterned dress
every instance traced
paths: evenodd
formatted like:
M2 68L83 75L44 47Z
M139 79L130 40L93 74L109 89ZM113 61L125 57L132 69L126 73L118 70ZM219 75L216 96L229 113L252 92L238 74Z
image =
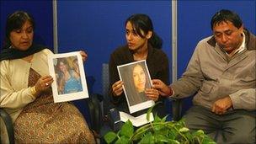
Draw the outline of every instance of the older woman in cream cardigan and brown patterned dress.
M11 115L16 143L95 143L83 115L72 104L53 102L47 56L33 43L35 23L29 13L8 17L1 53L0 107ZM87 55L81 51L83 61ZM2 125L1 125L2 126ZM1 137L6 142L3 127Z

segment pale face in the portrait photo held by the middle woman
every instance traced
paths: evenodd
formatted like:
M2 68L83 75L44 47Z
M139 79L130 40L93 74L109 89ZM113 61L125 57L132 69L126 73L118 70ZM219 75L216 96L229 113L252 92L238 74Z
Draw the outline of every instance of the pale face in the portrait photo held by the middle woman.
M136 65L132 72L134 85L139 93L145 90L146 74L140 65Z

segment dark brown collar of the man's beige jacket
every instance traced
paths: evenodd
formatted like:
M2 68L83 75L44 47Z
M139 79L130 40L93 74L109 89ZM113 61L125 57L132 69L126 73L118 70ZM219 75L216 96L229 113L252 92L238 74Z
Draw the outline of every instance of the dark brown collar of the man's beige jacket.
M249 33L248 29L243 29L244 35L245 35L245 43L247 46L247 49L250 50L256 50L256 37L252 33ZM214 36L211 36L211 39L207 41L207 43L211 46L216 46L216 40Z

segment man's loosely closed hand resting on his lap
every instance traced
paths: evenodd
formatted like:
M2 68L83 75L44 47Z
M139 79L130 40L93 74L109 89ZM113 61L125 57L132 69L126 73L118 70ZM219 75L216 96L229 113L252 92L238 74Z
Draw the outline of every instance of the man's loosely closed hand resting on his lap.
M222 115L227 112L227 109L232 107L232 100L229 96L218 99L212 106L211 111L216 113L217 115Z

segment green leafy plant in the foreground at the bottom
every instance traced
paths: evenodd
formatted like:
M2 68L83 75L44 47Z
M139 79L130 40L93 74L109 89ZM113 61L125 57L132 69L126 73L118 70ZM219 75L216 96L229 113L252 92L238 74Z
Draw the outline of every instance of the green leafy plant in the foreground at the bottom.
M153 108L153 107L152 107ZM147 120L149 120L149 114L152 112L152 108L147 110ZM189 131L184 125L184 120L179 121L166 121L167 116L163 119L157 115L154 116L154 120L147 125L142 125L136 131L131 124L130 120L127 120L122 125L120 131L115 133L109 131L104 136L104 141L107 143L173 143L173 144L216 144L215 141L205 135L204 131L199 130L195 132Z

